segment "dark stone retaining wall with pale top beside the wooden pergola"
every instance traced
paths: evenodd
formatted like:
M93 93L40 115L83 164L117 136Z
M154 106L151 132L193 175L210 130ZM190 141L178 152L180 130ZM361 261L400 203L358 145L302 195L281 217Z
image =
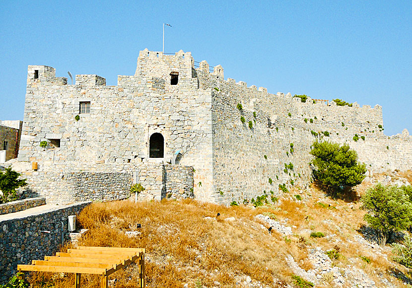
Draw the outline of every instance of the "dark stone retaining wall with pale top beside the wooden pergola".
M31 260L43 260L44 256L57 252L62 238L61 222L66 237L68 216L78 214L88 204L90 202L53 207L30 215L25 211L16 216L0 216L0 284L16 272L17 264L31 264Z

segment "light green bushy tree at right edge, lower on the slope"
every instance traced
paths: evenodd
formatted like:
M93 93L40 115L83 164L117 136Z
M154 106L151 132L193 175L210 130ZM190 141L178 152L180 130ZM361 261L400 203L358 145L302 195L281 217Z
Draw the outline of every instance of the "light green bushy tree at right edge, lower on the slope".
M364 219L377 232L379 245L384 246L393 233L412 225L412 204L404 190L381 184L368 189L362 196Z

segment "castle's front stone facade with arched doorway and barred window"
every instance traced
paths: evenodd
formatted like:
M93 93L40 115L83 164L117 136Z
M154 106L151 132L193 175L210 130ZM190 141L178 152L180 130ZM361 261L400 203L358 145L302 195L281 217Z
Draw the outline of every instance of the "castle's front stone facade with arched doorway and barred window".
M173 57L140 54L138 67L147 72L120 75L118 86L106 86L97 75L76 75L76 84L68 85L66 78L55 77L51 67L29 66L18 159L38 162L39 169L31 178L46 178L44 175L57 171L110 172L96 164L166 164L180 151L180 164L194 166L195 182L203 184L194 187L196 197L211 201L212 93L198 89L190 53ZM166 68L165 63L169 65ZM36 70L38 78L34 77ZM177 85L170 83L171 72L179 72ZM80 102L90 102L89 114L79 114ZM78 121L74 119L77 114ZM153 133L164 137L162 159L149 158ZM41 141L55 140L60 141L60 147L39 145ZM46 179L43 182L55 185Z

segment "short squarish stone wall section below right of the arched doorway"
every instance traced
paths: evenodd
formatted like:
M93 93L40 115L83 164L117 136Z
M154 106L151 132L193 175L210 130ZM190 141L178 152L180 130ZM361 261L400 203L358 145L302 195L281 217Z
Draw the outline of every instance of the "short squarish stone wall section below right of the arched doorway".
M164 182L166 197L171 199L193 198L193 166L165 165Z

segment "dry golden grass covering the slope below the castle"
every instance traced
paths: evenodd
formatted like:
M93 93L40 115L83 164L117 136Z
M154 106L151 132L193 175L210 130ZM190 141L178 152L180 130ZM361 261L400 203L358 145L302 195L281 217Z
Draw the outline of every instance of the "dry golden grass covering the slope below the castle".
M302 195L304 201L295 201L292 193ZM310 193L293 191L274 206L257 209L194 200L94 203L77 216L78 223L89 229L79 245L145 248L146 284L153 288L182 288L186 283L189 288L199 283L210 288L243 287L238 283L246 276L268 287L293 286L293 273L286 264L286 255L292 255L301 268L309 270L313 268L307 258L309 248L321 247L326 251L335 245L342 255L334 261L335 266L361 268L377 287L384 287L379 275L391 279L397 287L406 287L390 275L391 270L406 274L404 268L374 254L354 239L353 235L365 224L365 212L359 207L360 203L327 198L316 188ZM216 219L217 213L220 216ZM296 226L292 229L295 234L287 238L277 232L269 234L262 226L266 223L254 218L264 213L287 226ZM206 216L212 219L205 219ZM224 220L232 216L236 221ZM140 229L136 228L137 223L141 224ZM126 236L124 232L131 230L138 230L140 235ZM311 238L309 230L336 236ZM389 249L382 253L390 259ZM363 262L360 256L369 257L371 263ZM113 274L109 283L116 279L112 287L135 288L137 278L137 266L130 265ZM32 274L30 281L32 288L63 288L74 283L71 275L47 273ZM331 275L327 275L325 282L317 287L332 287L330 283ZM99 287L99 279L84 276L82 287Z

